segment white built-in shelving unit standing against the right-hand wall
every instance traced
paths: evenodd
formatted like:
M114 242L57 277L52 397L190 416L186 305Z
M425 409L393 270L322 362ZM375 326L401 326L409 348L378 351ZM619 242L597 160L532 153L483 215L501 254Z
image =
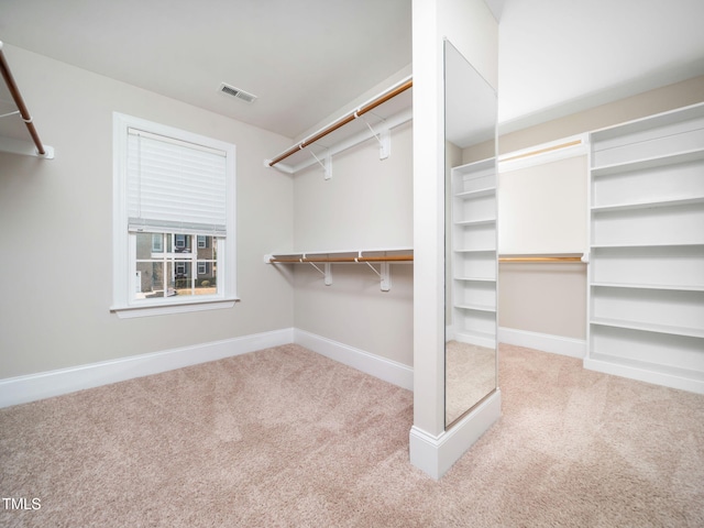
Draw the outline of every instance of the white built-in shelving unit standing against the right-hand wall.
M704 393L704 103L591 147L585 366Z

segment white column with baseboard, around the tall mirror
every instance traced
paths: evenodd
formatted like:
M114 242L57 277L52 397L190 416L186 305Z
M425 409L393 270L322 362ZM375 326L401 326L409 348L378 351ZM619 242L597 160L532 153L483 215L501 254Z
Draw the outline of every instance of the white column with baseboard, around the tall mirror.
M443 38L496 85L498 29L483 0L413 0L414 426L410 462L435 479L501 415L501 394L444 430Z

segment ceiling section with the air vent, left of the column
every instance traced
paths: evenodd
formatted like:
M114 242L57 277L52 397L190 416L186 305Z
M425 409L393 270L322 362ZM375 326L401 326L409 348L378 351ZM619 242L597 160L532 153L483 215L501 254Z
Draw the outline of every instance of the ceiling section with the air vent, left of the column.
M410 28L410 0L0 0L9 44L288 138L409 66Z

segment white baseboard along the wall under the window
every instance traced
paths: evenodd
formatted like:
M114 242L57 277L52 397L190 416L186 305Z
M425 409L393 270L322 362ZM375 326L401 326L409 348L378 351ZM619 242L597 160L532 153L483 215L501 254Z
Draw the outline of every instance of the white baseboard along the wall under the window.
M294 341L294 329L243 336L70 369L0 380L0 408L158 374Z

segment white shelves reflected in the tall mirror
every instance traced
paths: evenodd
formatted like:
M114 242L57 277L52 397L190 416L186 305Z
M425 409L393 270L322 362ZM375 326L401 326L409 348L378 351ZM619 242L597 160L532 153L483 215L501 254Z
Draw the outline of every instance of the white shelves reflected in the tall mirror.
M496 161L451 170L452 324L448 339L496 346Z

